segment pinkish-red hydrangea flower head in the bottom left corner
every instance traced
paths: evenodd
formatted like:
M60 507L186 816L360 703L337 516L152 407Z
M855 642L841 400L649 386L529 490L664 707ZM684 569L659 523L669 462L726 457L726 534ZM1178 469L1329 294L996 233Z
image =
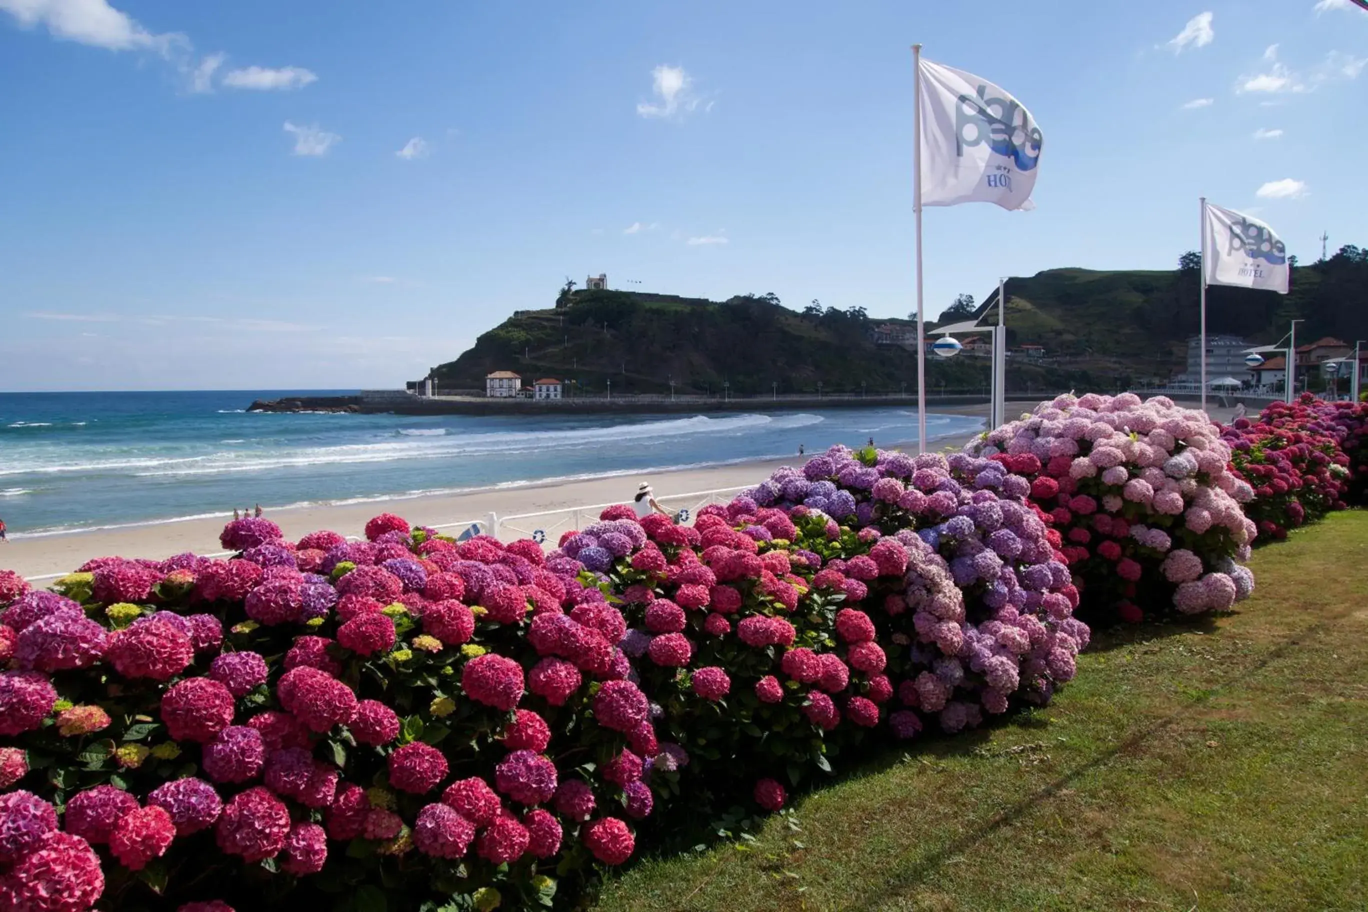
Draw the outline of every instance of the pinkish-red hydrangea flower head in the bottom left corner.
M73 833L52 833L0 878L0 909L83 912L104 893L100 856Z

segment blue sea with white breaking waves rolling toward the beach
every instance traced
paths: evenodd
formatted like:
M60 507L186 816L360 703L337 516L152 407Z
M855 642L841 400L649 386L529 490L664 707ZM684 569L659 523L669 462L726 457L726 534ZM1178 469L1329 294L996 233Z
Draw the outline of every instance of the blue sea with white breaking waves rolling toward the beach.
M289 392L298 391L0 392L0 518L16 537L55 535L256 503L635 476L796 455L800 443L814 453L870 436L881 444L917 439L917 412L899 407L518 417L245 410ZM982 424L928 414L928 438ZM628 488L635 484L624 481Z

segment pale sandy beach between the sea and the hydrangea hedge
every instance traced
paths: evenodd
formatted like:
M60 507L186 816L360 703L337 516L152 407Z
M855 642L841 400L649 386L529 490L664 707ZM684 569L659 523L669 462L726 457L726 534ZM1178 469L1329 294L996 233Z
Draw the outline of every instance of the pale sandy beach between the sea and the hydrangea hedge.
M1021 405L1022 412L1026 410L1026 403L1014 402L1008 403L1008 413L1016 414L1018 405ZM960 406L940 412L985 417L988 406ZM1228 409L1213 407L1208 409L1208 412L1218 421L1230 420ZM973 435L933 440L932 448L958 448L970 436ZM891 443L876 440L876 443L888 448L915 450L917 447L915 442ZM813 455L822 448L825 447L814 444L807 450L807 454ZM687 507L694 513L699 506L707 503L709 498L687 495L750 487L766 479L781 465L798 465L800 462L802 458L795 454L793 458L787 459L757 459L705 469L658 472L648 480L654 485L655 496L662 502L662 506L670 510ZM451 495L393 498L332 506L267 509L265 515L279 524L286 537L298 539L304 533L316 529L332 529L342 535L357 536L361 535L365 521L379 513L397 513L410 522L421 525L462 524L460 528L449 529L453 535L465 528L464 524L486 521L490 514L498 514L501 520L501 539L513 540L527 537L534 529L542 529L550 541L555 541L565 529L573 528L573 518L569 514L513 520L506 525L503 524L503 518L550 510L625 503L636 492L636 485L640 480L643 479L639 479L636 474L622 474L579 481L544 481ZM720 495L713 499L725 500L728 496ZM183 551L213 554L222 550L219 546L219 532L230 518L231 514L223 514L175 522L149 522L89 532L16 537L7 543L0 543L0 567L16 570L26 577L48 577L51 574L68 573L85 561L101 555L161 559ZM586 515L583 521L588 522L590 517Z

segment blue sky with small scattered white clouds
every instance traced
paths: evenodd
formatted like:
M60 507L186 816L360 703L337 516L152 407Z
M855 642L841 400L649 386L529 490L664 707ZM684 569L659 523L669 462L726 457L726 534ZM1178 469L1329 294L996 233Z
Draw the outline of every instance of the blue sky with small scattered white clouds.
M397 386L599 272L906 314L912 41L1045 137L1033 212L926 211L928 313L1201 194L1368 245L1349 0L0 0L0 390Z

